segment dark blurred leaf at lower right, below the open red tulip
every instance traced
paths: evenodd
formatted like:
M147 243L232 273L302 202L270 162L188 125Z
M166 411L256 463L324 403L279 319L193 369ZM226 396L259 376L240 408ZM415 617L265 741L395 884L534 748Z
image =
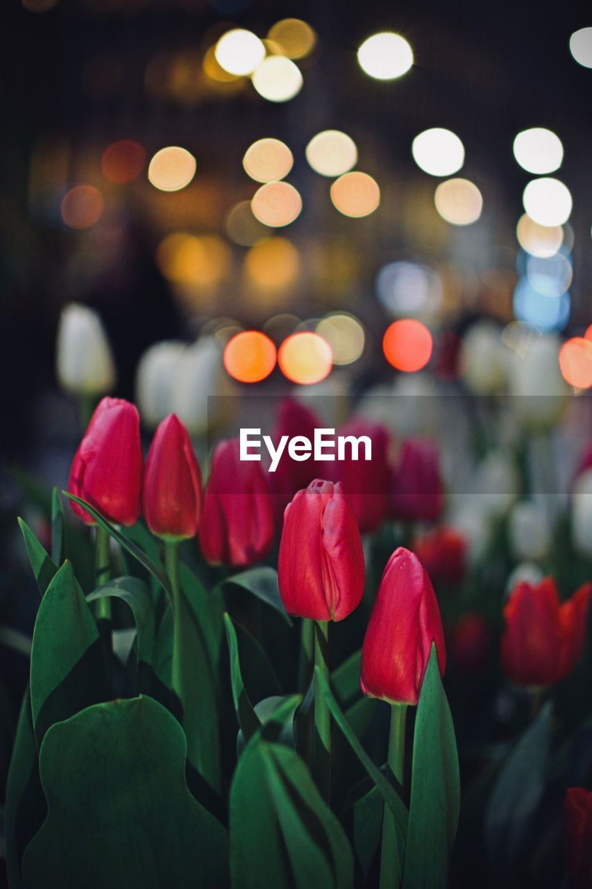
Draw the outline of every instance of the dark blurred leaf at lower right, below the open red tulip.
M511 862L520 851L545 789L551 746L551 701L524 732L500 769L485 811L485 842L492 862Z

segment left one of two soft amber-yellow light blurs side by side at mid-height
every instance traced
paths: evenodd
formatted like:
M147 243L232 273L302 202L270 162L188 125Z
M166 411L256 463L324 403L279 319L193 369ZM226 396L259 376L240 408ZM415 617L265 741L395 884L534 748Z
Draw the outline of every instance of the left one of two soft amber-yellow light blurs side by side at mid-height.
M158 245L156 262L173 284L209 288L219 284L231 262L228 245L215 235L173 232Z

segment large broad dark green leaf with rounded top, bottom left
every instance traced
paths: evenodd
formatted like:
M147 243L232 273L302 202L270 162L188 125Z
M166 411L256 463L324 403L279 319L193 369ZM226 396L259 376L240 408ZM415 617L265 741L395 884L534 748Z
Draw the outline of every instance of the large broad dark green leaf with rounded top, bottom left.
M226 831L189 793L185 754L179 724L148 697L53 725L39 755L48 815L22 862L27 889L228 885Z

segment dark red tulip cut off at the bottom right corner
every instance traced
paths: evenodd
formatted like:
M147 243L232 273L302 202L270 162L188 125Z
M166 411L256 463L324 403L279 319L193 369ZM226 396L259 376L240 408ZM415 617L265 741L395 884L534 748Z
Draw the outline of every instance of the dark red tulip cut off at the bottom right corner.
M565 861L572 889L592 885L592 793L571 787L564 802Z

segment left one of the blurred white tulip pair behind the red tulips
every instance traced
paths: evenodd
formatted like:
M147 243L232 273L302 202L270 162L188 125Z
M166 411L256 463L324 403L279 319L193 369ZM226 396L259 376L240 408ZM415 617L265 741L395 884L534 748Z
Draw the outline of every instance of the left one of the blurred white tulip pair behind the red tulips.
M180 362L188 346L179 340L156 342L146 349L136 368L136 401L142 421L155 428L172 412Z

